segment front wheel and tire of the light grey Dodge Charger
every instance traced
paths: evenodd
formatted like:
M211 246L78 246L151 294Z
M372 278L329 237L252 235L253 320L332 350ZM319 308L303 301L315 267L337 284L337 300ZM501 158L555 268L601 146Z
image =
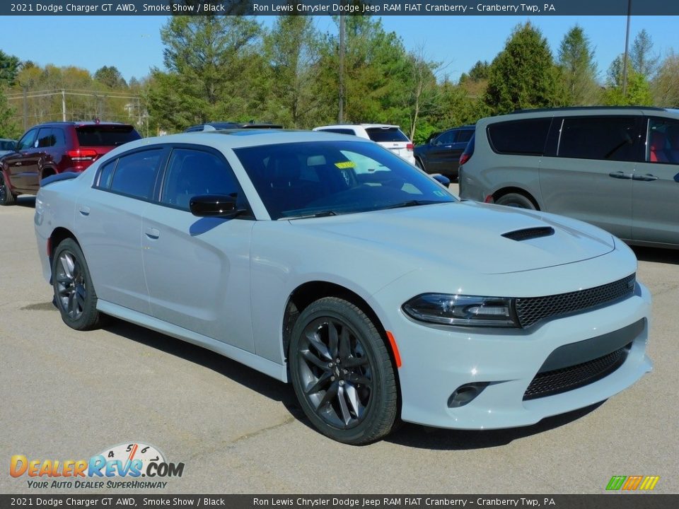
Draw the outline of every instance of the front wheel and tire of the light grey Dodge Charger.
M362 445L393 428L393 364L375 324L356 305L326 297L303 310L292 332L289 362L297 399L324 435Z

